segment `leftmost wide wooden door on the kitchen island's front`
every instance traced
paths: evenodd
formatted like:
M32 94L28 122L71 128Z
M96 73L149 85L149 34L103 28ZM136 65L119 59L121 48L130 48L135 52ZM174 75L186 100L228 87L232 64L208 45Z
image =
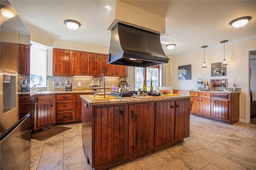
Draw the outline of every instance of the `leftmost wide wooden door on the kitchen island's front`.
M95 166L118 160L125 156L124 106L98 107L95 119Z

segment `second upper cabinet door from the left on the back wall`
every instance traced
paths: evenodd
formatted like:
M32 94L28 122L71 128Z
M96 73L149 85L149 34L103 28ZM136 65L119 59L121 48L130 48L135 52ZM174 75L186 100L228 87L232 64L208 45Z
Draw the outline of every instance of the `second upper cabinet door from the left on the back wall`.
M72 51L72 75L90 75L88 53L83 51Z

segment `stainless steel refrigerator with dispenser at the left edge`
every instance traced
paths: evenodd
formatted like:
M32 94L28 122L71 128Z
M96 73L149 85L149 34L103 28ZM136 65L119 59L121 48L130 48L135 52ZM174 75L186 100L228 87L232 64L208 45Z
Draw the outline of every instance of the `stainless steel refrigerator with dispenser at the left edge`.
M19 43L22 24L7 0L1 0L0 4L0 169L28 170L31 161L30 114L19 120L18 100ZM2 8L14 12L16 16L4 17Z

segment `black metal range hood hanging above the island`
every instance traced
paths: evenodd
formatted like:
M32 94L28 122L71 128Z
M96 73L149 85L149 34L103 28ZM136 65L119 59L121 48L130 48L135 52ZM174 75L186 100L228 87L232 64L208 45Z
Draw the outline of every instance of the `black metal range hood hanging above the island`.
M160 34L119 22L112 28L108 64L150 67L168 61Z

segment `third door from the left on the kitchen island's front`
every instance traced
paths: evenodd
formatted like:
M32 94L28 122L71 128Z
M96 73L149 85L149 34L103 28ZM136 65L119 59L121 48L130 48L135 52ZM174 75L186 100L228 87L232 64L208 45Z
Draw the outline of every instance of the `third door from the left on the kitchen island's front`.
M155 108L155 146L174 141L175 101L157 102Z

